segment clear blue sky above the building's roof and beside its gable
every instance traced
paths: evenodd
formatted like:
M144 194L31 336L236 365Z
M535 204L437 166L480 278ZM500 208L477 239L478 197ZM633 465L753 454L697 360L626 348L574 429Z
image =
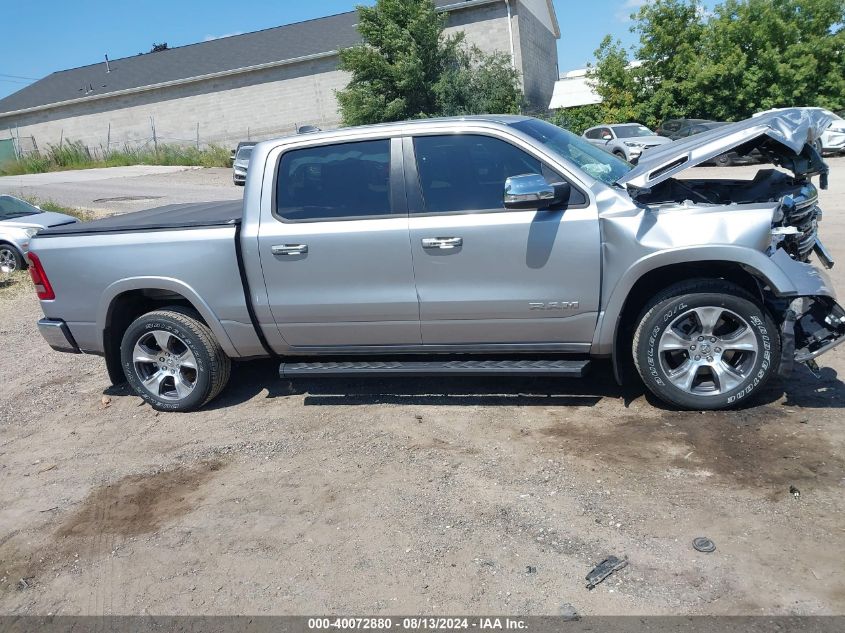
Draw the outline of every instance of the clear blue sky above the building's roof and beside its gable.
M554 0L561 72L601 39L634 42L629 14L648 0ZM351 11L372 0L0 0L0 98L51 72Z

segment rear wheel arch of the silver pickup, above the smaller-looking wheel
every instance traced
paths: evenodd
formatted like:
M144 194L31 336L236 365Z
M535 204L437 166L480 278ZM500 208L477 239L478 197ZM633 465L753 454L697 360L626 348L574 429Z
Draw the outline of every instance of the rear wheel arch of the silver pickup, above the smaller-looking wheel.
M239 355L220 320L189 286L175 279L125 279L106 289L97 310L97 331L102 333L103 356L113 384L125 380L120 343L126 328L139 316L168 306L181 306L195 312L227 356Z

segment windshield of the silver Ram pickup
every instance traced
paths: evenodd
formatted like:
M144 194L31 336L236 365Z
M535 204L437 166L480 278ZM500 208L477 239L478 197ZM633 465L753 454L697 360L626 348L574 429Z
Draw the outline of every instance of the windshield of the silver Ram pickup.
M551 123L538 119L525 119L513 123L512 127L539 141L546 149L575 163L590 176L608 185L612 185L632 169L632 166L624 160L608 154L580 136L575 136L572 132Z

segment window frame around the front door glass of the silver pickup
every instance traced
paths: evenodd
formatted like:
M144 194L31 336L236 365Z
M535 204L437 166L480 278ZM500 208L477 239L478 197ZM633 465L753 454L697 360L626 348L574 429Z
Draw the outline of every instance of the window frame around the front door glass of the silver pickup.
M582 204L566 205L554 210L567 211L569 209L587 209L592 204L589 193L584 191L582 187L572 182L570 178L563 176L560 173L560 170L549 165L549 161L534 152L533 148L531 150L528 150L525 147L513 143L513 141L511 139L508 139L507 137L499 136L498 134L492 134L489 131L480 130L472 130L466 132L459 131L451 134L443 133L442 131L430 133L419 132L404 136L402 138L402 158L404 162L405 171L405 189L407 191L407 209L409 216L412 218L427 218L433 216L447 215L481 215L489 213L537 213L538 211L537 209L506 209L504 207L499 209L475 209L471 211L415 211L414 209L425 209L425 196L423 196L422 193L422 183L420 182L419 171L417 169L417 155L416 150L414 149L414 139L421 136L489 136L490 138L494 138L505 143L510 143L517 149L522 150L532 158L540 161L540 163L545 165L546 168L557 174L561 181L569 183L569 186L572 187L573 191L578 191L582 196L584 196L585 202ZM546 212L545 209L543 209L542 211Z

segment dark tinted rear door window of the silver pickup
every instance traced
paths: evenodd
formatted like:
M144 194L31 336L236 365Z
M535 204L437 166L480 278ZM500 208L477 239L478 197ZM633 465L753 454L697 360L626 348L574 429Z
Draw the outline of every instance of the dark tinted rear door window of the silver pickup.
M279 161L276 214L285 221L386 216L390 199L388 139L291 150Z

